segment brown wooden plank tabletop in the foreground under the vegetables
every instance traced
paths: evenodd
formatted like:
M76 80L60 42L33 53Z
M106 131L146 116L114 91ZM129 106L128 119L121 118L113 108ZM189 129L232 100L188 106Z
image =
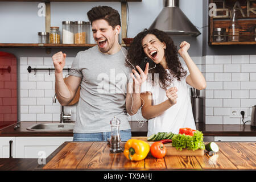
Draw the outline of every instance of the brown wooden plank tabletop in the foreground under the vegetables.
M165 156L131 162L123 153L112 154L107 142L65 142L36 170L176 170L176 169L256 169L255 142L216 142L220 151L213 156ZM122 146L125 143L122 142Z

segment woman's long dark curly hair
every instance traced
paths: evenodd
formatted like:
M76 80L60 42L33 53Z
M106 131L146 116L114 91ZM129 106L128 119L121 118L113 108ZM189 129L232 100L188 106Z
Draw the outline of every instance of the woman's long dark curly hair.
M164 49L164 55L166 56L166 63L167 67L172 74L172 77L176 77L177 80L180 81L181 77L187 75L187 71L184 71L183 67L178 58L177 47L174 45L174 41L168 36L165 32L160 31L158 29L147 30L146 28L140 32L137 36L135 36L133 42L131 43L130 48L128 49L127 59L130 61L131 64L139 65L146 54L142 48L142 39L147 34L153 34L160 40L160 42L166 43L166 49ZM130 68L134 68L126 60L126 66ZM158 73L159 75L159 85L163 89L167 89L169 86L168 83L172 82L172 78L168 76L167 72L163 68L161 64L156 64L156 68L151 69L148 73L152 74L152 85L154 85L154 74Z

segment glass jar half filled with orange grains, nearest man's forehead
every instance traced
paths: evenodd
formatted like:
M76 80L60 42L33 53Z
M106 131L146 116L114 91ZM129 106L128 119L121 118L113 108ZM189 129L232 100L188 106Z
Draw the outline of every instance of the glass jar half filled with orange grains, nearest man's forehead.
M75 44L85 44L85 24L83 21L75 22Z

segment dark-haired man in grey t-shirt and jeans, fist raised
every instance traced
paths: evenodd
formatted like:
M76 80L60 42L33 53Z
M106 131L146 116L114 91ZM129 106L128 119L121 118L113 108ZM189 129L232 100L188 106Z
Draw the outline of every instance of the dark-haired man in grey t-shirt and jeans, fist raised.
M114 116L121 120L121 140L126 141L131 138L126 113L133 115L142 105L139 89L146 79L148 65L144 72L136 67L141 76L133 69L134 76L125 67L127 51L118 43L121 21L117 10L98 6L87 15L97 46L77 53L66 83L62 71L67 55L58 52L52 56L56 96L61 105L67 105L81 86L74 141L106 141L110 138L110 119ZM133 78L130 82L129 73Z

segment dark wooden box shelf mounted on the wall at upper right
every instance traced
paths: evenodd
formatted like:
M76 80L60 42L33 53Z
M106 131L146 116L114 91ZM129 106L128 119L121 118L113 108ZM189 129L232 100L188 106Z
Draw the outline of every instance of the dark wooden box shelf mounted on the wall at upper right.
M247 2L249 0L236 1L236 0L210 0L209 3L216 3L217 5L217 16L209 16L209 28L208 28L208 44L209 45L255 45L255 31L256 28L256 14L249 11L247 15ZM255 8L256 2L250 1L250 7ZM229 17L226 15L226 10L229 11L236 7L238 9L238 24L240 26L239 42L213 42L213 30L214 28L226 28L225 35L228 39L228 30L230 26L230 12ZM221 10L224 9L224 10ZM210 9L209 9L210 10ZM243 13L243 14L242 14ZM223 16L223 17L221 17Z

